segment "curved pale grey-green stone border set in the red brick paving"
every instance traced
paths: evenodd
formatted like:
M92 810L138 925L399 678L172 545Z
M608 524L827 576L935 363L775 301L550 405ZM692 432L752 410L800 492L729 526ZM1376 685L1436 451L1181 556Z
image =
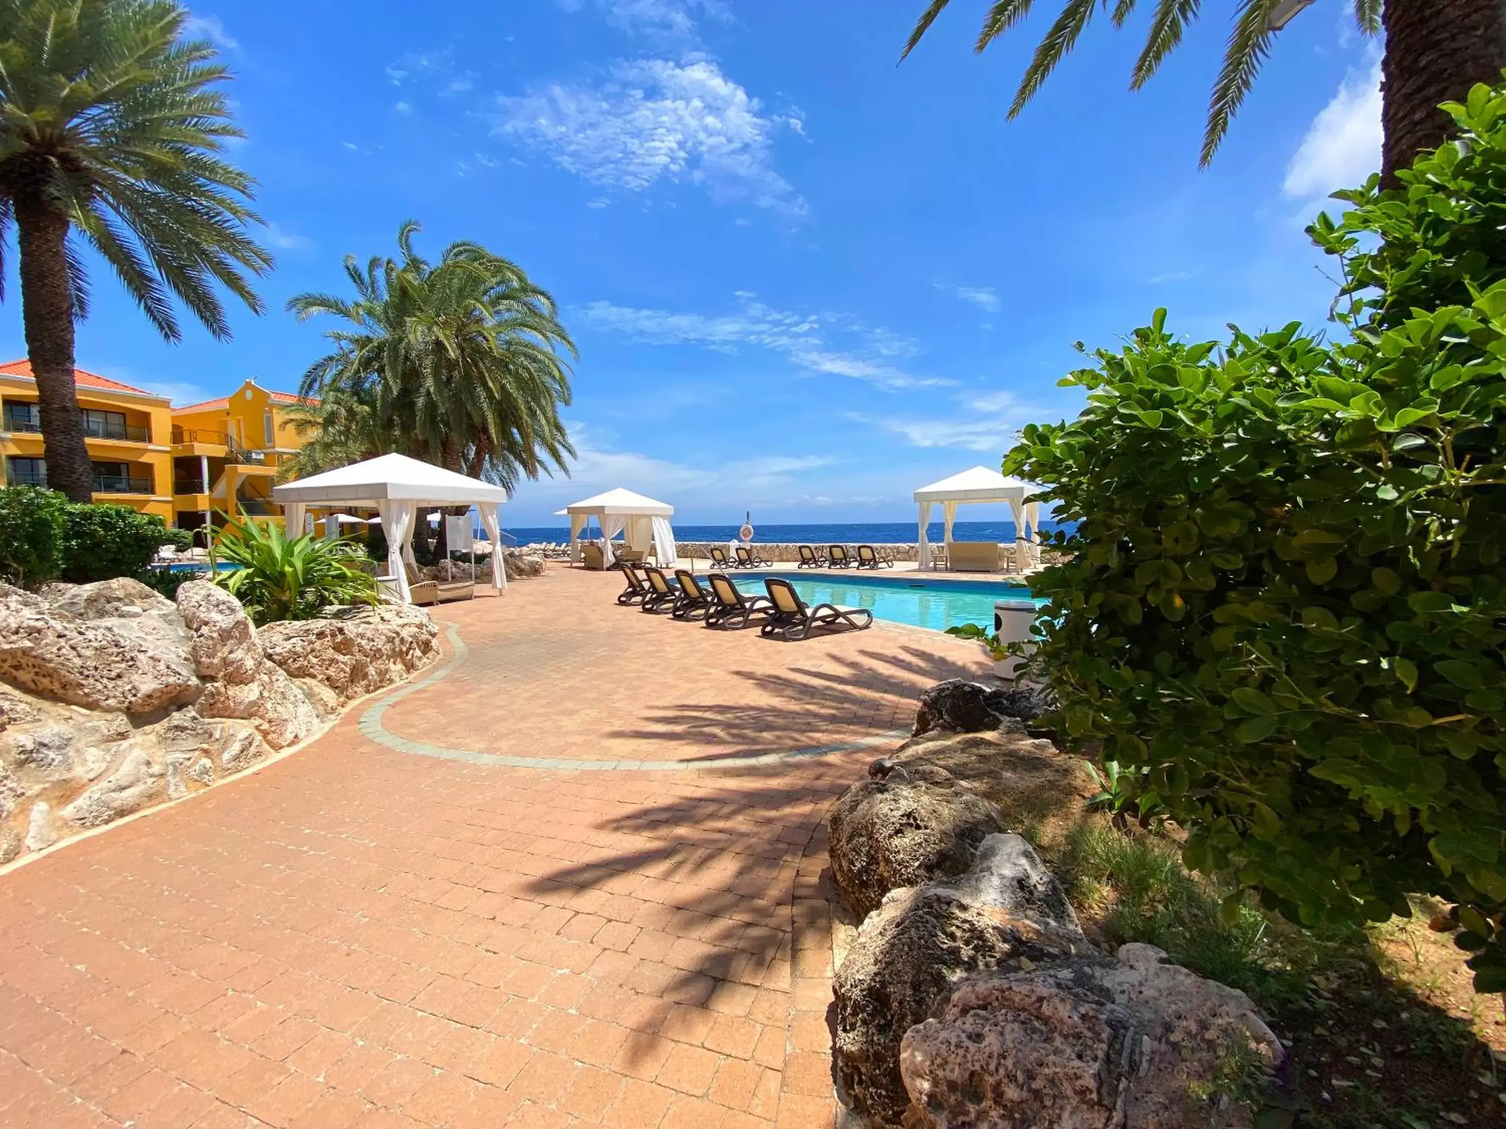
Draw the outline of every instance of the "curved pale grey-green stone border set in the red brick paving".
M855 741L837 741L830 745L806 745L803 748L776 750L771 753L756 753L741 757L718 757L714 760L577 760L574 757L514 757L503 753L476 753L468 748L449 748L447 745L432 745L426 741L410 741L398 736L383 724L383 715L390 706L398 704L410 694L443 682L467 658L470 647L461 638L453 623L444 625L444 637L450 641L452 658L437 667L417 682L408 682L401 689L380 697L361 714L358 729L363 738L399 753L413 753L420 757L438 757L441 760L464 760L470 765L494 765L497 768L542 768L565 772L717 772L729 768L761 768L779 765L806 757L827 757L834 753L851 753L860 748L884 745L890 741L910 736L908 729L892 729Z

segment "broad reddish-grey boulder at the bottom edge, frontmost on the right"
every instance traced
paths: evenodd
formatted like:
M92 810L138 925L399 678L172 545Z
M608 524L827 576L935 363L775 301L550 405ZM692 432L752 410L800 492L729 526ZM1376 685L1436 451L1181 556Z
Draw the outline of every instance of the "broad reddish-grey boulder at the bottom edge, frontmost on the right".
M1151 945L1125 945L1117 963L980 975L905 1033L905 1126L1235 1129L1242 1106L1194 1094L1221 1060L1251 1052L1267 1069L1283 1058L1248 997Z

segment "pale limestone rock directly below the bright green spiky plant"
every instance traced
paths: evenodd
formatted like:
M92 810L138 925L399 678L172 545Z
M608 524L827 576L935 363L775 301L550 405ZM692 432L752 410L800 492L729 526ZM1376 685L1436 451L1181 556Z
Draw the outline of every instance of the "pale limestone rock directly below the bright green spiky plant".
M297 679L313 679L340 701L402 682L438 653L438 628L423 608L349 608L312 620L268 623L258 635L267 658Z

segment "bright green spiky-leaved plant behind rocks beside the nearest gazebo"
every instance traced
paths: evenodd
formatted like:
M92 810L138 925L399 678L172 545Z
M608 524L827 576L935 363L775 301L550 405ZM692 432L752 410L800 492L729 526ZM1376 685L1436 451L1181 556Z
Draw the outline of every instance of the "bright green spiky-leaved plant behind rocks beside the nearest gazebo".
M282 522L242 518L215 530L218 555L239 564L217 584L235 593L258 625L313 619L334 604L375 604L376 580L360 568L361 551L343 540L304 534L291 540Z

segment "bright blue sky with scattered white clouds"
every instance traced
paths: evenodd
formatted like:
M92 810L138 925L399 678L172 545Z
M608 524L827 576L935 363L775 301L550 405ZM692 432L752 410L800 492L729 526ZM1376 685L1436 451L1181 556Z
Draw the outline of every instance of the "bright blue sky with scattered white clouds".
M511 524L611 486L685 522L883 521L1074 414L1056 387L1074 342L1114 345L1157 306L1194 337L1324 322L1333 286L1301 229L1379 145L1375 47L1346 0L1279 36L1206 172L1229 5L1140 93L1143 17L1099 17L1015 122L1054 0L982 57L985 5L953 0L896 66L922 8L194 6L235 72L268 313L236 312L229 343L191 327L167 345L101 272L78 363L182 402L248 376L294 390L322 342L286 298L340 288L346 253L389 253L413 217L429 251L467 238L520 262L580 346L580 459L523 485ZM24 354L14 298L0 333Z

